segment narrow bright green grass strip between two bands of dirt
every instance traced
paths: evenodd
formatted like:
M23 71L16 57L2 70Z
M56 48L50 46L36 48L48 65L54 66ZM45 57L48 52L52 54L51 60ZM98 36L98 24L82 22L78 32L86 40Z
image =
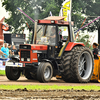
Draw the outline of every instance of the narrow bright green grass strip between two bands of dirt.
M24 89L27 88L28 90L67 90L67 89L74 89L74 90L100 90L100 86L96 85L89 85L89 86L57 86L57 85L0 85L0 89L7 89L7 90L15 90L15 89Z

